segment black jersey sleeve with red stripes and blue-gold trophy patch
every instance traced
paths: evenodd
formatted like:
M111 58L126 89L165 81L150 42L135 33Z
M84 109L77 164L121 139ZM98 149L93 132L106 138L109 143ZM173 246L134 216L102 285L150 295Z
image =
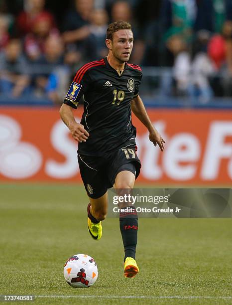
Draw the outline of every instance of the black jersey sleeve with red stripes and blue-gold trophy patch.
M90 86L89 71L85 72L82 67L77 71L69 87L69 90L64 98L64 104L67 104L72 108L77 109L81 97L88 90L89 86Z

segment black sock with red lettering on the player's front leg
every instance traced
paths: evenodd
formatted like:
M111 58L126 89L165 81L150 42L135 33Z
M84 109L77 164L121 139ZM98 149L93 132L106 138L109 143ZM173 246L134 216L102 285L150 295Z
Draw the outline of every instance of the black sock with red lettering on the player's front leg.
M133 207L132 209L132 213L123 212L120 213L119 216L120 232L125 251L124 261L127 257L132 257L133 259L135 259L138 232L138 216Z

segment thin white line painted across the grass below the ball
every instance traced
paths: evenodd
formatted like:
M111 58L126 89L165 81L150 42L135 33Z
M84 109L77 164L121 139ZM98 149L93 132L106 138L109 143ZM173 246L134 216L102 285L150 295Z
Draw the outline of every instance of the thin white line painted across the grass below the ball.
M62 296L62 295L47 295L47 296L35 296L35 298L50 298L50 299L223 299L231 300L232 296L221 297L221 296L83 296L83 295L74 295L74 296Z

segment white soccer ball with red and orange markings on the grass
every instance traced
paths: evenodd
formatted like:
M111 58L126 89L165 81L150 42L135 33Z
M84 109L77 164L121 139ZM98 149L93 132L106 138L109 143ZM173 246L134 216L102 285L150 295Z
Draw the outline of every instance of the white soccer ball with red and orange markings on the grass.
M74 288L88 288L98 278L98 266L89 255L76 254L65 263L64 278Z

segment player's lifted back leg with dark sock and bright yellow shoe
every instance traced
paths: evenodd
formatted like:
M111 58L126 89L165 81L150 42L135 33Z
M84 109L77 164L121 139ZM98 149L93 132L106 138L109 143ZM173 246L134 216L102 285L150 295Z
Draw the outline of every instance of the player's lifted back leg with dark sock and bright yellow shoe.
M108 208L108 193L97 199L90 198L90 203L87 207L88 212L88 230L90 235L99 240L102 237L102 224L107 215Z

